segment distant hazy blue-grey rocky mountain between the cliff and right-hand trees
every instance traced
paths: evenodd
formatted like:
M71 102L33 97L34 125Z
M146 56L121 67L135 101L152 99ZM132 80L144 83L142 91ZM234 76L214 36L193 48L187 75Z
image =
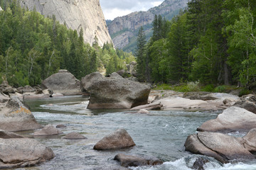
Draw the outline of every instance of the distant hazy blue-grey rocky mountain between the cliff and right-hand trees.
M108 21L107 26L116 48L126 52L134 52L137 44L137 33L141 26L144 27L146 38L152 35L151 23L155 15L161 15L171 20L180 9L186 8L188 0L165 0L161 5L150 8L149 11L130 13L127 16L114 18Z

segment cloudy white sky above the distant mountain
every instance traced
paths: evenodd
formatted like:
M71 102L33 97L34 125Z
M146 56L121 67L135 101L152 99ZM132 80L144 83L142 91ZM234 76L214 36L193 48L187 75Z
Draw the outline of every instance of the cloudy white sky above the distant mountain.
M159 6L164 0L100 0L100 6L106 20L113 20L118 16L126 16L134 11L147 11Z

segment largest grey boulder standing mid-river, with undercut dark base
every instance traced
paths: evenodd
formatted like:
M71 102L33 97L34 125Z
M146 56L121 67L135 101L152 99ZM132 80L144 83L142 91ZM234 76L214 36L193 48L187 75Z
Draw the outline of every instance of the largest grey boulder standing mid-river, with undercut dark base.
M115 74L102 77L95 72L82 78L82 91L90 93L88 108L132 108L147 103L150 87Z

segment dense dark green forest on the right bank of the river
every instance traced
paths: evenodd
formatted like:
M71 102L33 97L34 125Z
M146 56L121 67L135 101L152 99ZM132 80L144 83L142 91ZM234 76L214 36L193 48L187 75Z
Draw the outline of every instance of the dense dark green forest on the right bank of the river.
M256 86L256 1L191 0L171 21L154 18L137 38L142 81ZM166 31L167 30L167 31Z

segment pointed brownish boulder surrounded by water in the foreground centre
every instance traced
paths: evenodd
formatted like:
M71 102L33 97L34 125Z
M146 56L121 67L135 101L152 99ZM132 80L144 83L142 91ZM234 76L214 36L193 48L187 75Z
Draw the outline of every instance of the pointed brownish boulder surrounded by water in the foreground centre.
M93 147L96 150L110 150L110 149L122 149L126 147L133 147L135 145L132 137L124 129L118 129L102 138Z

